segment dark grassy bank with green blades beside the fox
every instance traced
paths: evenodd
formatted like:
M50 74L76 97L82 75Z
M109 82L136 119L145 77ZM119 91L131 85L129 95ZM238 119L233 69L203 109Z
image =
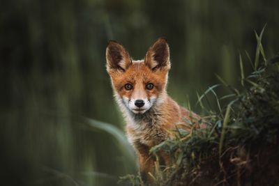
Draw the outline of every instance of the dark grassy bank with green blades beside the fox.
M264 31L264 30L263 30ZM262 33L263 33L262 31ZM220 82L232 94L217 98L219 109L204 107L206 96L220 86L211 86L198 103L208 113L209 127L176 131L176 138L151 149L156 155L165 150L172 164L157 162L153 185L279 185L279 57L266 61L257 35L255 69L245 77L240 56L242 90ZM225 107L221 100L229 99ZM159 168L160 167L160 168ZM140 176L124 176L120 183L143 185Z

